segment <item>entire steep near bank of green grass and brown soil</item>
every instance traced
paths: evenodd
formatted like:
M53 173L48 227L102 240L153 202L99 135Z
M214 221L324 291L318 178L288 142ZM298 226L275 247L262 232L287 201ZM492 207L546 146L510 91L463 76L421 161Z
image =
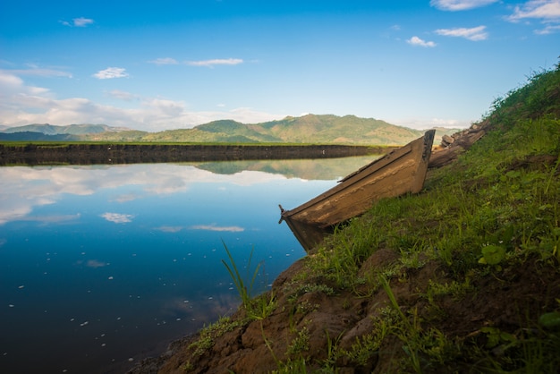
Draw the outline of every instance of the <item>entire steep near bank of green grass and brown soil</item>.
M256 297L225 250L239 310L133 372L557 373L559 118L556 67L496 99L423 191L378 201Z

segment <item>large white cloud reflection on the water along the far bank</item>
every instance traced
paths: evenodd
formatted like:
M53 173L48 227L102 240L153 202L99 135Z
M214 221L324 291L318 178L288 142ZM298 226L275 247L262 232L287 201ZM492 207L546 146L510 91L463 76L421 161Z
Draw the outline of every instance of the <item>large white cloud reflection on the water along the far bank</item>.
M216 170L224 169L220 163L205 165ZM169 196L190 191L193 186L199 184L212 183L215 191L228 191L231 185L251 186L273 181L282 182L294 176L302 178L303 174L310 174L310 170L325 174L327 165L339 166L344 165L344 162L309 160L296 163L273 160L229 163L228 167L233 169L227 174L216 174L212 170L185 164L0 167L0 225L24 219L38 207L63 200L64 195L88 196L108 191L109 196L112 195L108 198L109 201L126 204L151 196ZM242 170L243 167L276 172ZM346 169L353 170L354 166L344 170ZM295 173L294 170L298 172ZM198 229L205 228L201 226Z

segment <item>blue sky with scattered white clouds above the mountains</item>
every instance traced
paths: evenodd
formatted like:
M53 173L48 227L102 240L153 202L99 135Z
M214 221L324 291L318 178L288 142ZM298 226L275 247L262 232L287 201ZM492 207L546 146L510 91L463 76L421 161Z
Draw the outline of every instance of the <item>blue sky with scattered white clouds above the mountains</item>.
M468 126L560 56L560 0L0 4L0 125Z

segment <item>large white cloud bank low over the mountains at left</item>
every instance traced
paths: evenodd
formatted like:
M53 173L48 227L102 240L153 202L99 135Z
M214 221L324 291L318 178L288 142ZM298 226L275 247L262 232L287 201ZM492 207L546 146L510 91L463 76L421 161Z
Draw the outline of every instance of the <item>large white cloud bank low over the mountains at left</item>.
M28 86L20 77L0 70L0 124L106 123L157 132L191 128L219 119L261 123L284 118L250 107L232 110L190 111L186 103L167 98L140 98L131 92L113 90L109 95L135 103L132 107L100 105L88 98L55 98L49 89ZM132 100L135 99L135 100Z

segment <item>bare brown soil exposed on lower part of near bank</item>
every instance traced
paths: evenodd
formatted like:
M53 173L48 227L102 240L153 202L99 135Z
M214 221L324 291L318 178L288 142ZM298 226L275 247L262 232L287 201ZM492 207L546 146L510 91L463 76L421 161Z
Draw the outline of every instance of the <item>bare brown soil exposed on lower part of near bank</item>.
M396 251L376 251L364 262L361 274L375 273L398 257ZM145 360L131 372L266 373L277 370L276 360L290 358L286 354L288 346L303 330L310 334L306 355L310 356L311 362L320 362L327 360L328 339L338 339L339 347L350 349L352 344L374 329L375 317L389 305L383 289L363 298L356 297L351 290L338 289L330 296L319 291L307 292L301 294L297 301L289 301L293 290L297 289L297 282L294 283L293 279L301 271L305 271L305 259L294 263L278 276L272 287L277 307L267 319L252 321L217 337L213 346L201 355L193 354L195 348L190 347L199 335L186 337L174 342L161 357ZM428 262L423 268L403 274L400 280L395 279L391 288L403 312L417 310L419 319L423 321L422 329L428 330L432 323L434 326L437 324L448 339L465 345L480 344L481 340L487 339L481 333L483 327L496 327L513 335L533 327L530 321L537 320L552 306L555 298L560 298L560 276L553 267L537 260L527 260L523 267L510 268L499 275L489 274L473 284L473 291L462 298L454 300L445 297L436 301L437 310L428 305L425 296L430 281L445 284L453 279L444 267ZM317 280L317 283L322 282ZM366 289L360 291L370 292ZM232 316L232 320L243 318L243 310ZM341 373L395 372L397 368L391 367L395 364L393 359L404 354L403 342L390 336L384 339L378 355L365 364L341 361L336 362L336 366ZM471 372L471 365L469 357L463 357L455 362L453 368L445 368L445 371ZM428 368L425 372L441 370Z

